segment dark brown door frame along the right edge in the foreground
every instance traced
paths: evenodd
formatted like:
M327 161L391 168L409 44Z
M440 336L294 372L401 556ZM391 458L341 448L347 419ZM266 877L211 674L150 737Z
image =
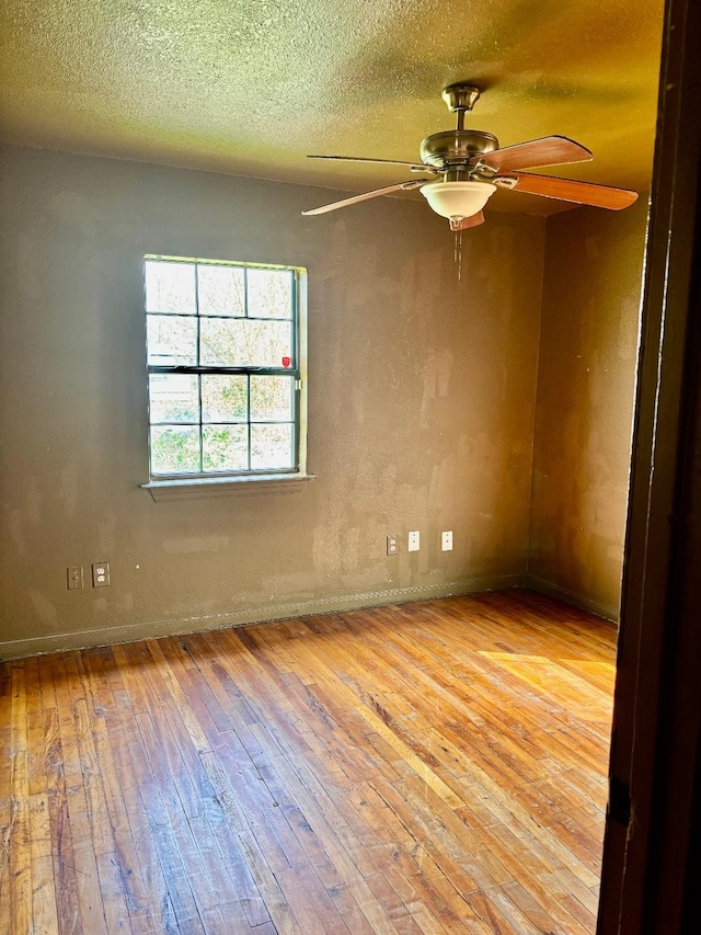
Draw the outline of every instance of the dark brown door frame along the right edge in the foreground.
M701 3L667 0L598 935L701 931L700 173Z

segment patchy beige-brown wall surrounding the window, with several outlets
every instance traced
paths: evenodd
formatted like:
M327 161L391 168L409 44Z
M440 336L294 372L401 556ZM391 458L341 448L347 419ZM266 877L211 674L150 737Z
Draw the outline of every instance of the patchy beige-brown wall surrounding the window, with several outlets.
M464 235L458 283L418 198L302 218L334 193L39 150L0 169L1 653L522 580L542 219ZM308 267L301 494L139 488L147 252ZM112 586L69 592L94 560Z

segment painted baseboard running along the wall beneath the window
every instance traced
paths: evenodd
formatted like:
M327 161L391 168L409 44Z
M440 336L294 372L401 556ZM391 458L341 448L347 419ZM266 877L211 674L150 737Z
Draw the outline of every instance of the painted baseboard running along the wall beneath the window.
M458 594L473 594L479 591L505 591L509 588L528 586L522 574L469 578L443 584L415 585L413 588L391 588L383 591L367 591L361 594L343 594L319 597L309 601L289 601L279 604L266 604L257 607L244 607L222 614L181 617L177 619L149 620L117 627L101 627L95 630L80 630L69 634L51 634L28 639L8 640L0 643L0 659L24 659L48 652L61 652L71 649L85 649L93 646L108 646L119 642L134 642L163 636L192 634L199 630L216 630L226 627L242 627L246 624L263 624L288 617L304 617L310 614L330 614L340 611L355 611L360 607L381 606L383 604L405 604L410 601L428 601L433 597L451 597Z

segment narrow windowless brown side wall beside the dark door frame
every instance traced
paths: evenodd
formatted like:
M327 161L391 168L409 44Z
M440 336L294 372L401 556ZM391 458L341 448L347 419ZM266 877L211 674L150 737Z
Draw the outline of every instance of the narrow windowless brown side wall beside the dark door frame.
M616 618L647 203L548 220L529 572Z

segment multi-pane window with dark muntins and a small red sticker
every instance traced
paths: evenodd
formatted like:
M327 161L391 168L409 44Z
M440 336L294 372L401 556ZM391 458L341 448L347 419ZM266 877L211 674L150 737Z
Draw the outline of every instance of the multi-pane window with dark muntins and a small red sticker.
M298 272L145 261L151 477L298 469Z

